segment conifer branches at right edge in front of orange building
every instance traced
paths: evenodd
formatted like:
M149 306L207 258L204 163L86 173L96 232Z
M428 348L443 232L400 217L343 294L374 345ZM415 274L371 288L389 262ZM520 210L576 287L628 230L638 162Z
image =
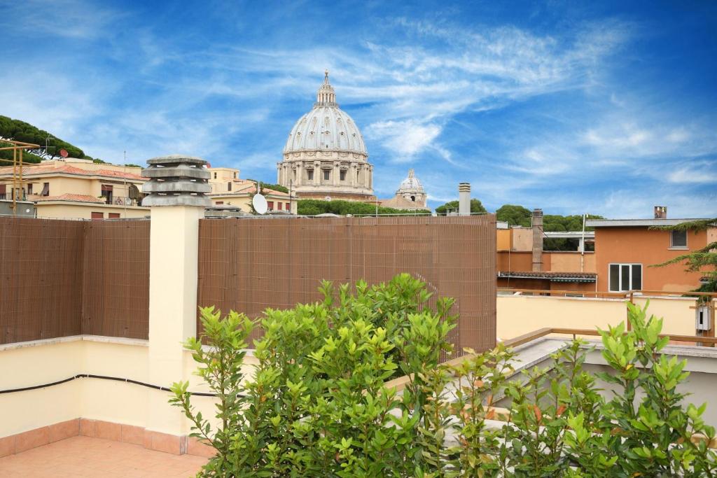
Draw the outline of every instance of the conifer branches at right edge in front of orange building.
M663 231L706 231L717 227L717 218L700 219L698 221L688 221L675 226L655 226L650 229L660 229ZM670 259L661 264L652 264L650 267L665 267L669 264L685 264L686 272L702 272L707 278L706 284L701 285L693 292L717 292L717 242L711 242L701 249L697 249L688 254L680 254L678 257Z

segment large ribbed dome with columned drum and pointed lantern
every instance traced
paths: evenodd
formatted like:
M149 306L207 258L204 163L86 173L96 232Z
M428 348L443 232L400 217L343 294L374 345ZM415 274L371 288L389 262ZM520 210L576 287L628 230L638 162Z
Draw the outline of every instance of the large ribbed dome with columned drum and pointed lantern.
M277 163L277 182L302 199L374 201L374 166L364 137L338 107L328 71L313 109L296 122Z

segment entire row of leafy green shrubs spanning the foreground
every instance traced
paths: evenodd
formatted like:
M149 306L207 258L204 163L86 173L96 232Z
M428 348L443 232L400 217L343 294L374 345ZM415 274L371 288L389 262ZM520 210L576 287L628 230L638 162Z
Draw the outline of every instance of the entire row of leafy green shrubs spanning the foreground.
M662 320L628 304L632 330L602 331L614 387L599 393L574 340L549 368L515 380L515 353L498 345L451 363L450 300L428 307L422 282L320 288L322 300L267 310L258 365L242 373L254 326L201 310L212 348L186 347L217 393L217 429L191 406L187 383L172 403L217 449L203 476L308 477L706 477L717 472L705 406L683 408L684 361L660 354ZM407 376L402 394L386 381ZM507 412L495 406L510 401ZM694 439L702 434L703 440Z

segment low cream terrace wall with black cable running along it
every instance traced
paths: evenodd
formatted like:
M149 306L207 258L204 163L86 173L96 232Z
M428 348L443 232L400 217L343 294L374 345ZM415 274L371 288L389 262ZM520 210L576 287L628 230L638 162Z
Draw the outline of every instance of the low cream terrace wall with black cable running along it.
M255 363L252 355L247 355L246 363L246 371L251 373ZM184 369L184 376L190 377L190 391L209 392L206 384L194 374L196 364L187 351L184 351ZM147 340L92 335L0 345L0 371L3 390L54 383L80 374L151 383ZM189 421L181 418L179 408L169 405L171 393L168 391L124 381L82 377L34 390L1 393L0 438L72 419L146 428L149 423L147 403L151 396L156 396L156 401L163 403L167 411L180 417L189 430ZM213 397L192 397L192 403L209 419L216 414L215 401ZM173 430L156 431L171 434Z

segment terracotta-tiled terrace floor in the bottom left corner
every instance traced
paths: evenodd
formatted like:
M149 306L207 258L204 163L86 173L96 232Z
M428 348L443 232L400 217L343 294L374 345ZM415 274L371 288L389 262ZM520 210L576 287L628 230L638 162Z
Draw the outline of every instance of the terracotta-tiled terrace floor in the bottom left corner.
M190 477L206 458L73 436L0 458L0 477Z

